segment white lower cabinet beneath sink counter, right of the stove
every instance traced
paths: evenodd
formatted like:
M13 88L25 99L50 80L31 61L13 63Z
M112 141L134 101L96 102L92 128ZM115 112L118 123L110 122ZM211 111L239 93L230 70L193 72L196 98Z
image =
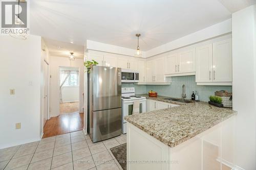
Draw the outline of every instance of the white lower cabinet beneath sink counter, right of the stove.
M147 112L160 110L160 109L168 109L168 108L177 107L177 106L180 106L180 105L166 103L166 102L159 102L159 101L151 100L151 99L146 100L146 111Z

